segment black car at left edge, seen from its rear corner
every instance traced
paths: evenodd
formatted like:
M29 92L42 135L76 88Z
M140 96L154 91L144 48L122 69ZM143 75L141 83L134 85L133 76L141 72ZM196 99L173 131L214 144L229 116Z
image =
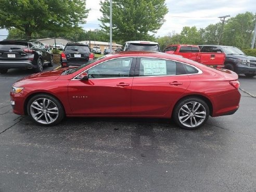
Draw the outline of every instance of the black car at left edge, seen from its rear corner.
M0 41L0 73L8 69L27 68L35 72L43 71L43 66L53 66L53 56L44 44L36 40Z

